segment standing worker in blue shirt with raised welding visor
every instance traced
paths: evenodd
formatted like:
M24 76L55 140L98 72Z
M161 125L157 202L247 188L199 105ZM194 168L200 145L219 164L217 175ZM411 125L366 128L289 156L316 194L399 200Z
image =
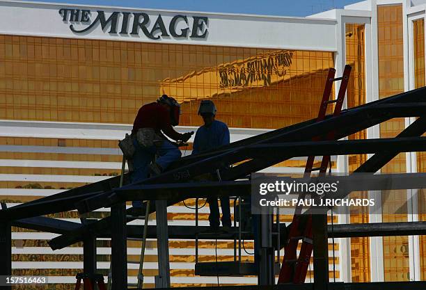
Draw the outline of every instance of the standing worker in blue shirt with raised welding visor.
M203 118L204 125L198 128L194 138L192 154L198 154L207 150L213 150L222 145L229 144L228 126L221 121L214 120L216 106L210 100L202 101L198 109L198 115ZM231 226L229 197L221 197L222 226L228 231ZM210 207L209 222L212 229L219 229L219 204L217 198L207 198Z

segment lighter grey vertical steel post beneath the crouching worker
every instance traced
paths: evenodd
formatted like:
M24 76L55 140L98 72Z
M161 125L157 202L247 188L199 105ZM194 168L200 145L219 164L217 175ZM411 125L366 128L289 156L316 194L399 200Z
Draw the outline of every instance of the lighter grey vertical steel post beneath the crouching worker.
M159 271L159 275L155 279L155 288L170 288L170 264L168 259L167 201L156 200L155 212L156 212L156 219L157 219L157 250L158 250L158 271Z

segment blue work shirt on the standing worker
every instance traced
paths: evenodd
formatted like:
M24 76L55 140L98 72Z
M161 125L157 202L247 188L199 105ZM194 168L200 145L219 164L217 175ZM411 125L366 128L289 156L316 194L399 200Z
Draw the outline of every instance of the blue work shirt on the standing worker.
M224 122L214 120L209 127L203 125L198 128L192 154L216 149L226 144L229 144L228 126Z

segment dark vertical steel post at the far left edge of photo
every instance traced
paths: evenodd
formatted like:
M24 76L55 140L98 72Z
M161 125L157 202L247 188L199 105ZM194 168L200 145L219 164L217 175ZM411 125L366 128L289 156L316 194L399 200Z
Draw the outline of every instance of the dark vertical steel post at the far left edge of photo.
M1 202L1 209L6 208L6 203ZM12 275L12 227L8 220L0 220L0 275ZM12 288L5 286L1 289Z

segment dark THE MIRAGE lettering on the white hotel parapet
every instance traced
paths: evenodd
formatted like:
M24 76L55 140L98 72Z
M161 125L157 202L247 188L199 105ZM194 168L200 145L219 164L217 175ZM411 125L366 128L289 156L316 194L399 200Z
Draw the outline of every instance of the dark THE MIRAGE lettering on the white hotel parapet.
M114 35L132 35L152 40L160 38L207 38L208 18L203 16L175 15L164 22L161 15L147 13L112 12L61 8L58 11L63 22L70 24L73 33L89 33L100 26L102 31ZM166 17L165 17L166 18ZM152 21L155 21L151 25ZM141 34L142 33L142 34Z

